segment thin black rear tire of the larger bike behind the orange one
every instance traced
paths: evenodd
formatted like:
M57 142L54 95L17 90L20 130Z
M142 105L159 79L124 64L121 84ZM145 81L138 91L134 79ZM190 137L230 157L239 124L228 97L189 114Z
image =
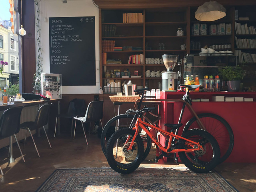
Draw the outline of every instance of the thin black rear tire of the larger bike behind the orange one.
M199 118L203 118L203 117L215 118L215 119L219 120L220 122L222 122L222 124L224 124L224 126L226 127L226 129L227 129L227 131L228 131L228 134L229 134L229 138L230 138L230 145L229 145L229 147L228 147L227 152L226 152L223 156L221 156L221 157L220 157L220 160L219 160L219 163L224 162L224 161L228 158L228 156L230 156L230 154L231 154L231 152L232 152L232 150L233 150L233 147L234 147L234 134L233 134L232 128L230 127L230 125L228 124L228 122L227 122L224 118L222 118L221 116L218 116L218 115L216 115L216 114L213 114L213 113L202 113L202 114L198 114L198 117L199 117ZM186 124L185 127L184 127L183 132L186 132L186 131L189 129L190 125L191 125L194 121L196 121L196 117L191 118L191 119L187 122L187 124Z

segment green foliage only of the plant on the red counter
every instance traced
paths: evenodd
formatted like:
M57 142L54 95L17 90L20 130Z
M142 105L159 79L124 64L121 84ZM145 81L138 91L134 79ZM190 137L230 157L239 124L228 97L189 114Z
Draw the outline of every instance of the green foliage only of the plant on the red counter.
M242 80L244 78L243 72L244 70L239 65L236 67L226 66L219 70L219 74L224 81Z

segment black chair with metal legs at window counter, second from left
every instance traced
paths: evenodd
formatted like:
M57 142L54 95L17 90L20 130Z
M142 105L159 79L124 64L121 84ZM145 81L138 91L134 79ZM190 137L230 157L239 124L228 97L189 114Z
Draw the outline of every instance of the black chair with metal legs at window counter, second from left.
M41 127L43 127L44 132L45 132L45 135L46 135L46 138L47 138L48 143L49 143L49 145L50 145L50 148L52 148L52 146L51 146L51 144L50 144L50 141L49 141L49 139L48 139L48 136L47 136L47 134L46 134L46 130L45 130L45 128L44 128L44 126L48 123L50 106L51 106L51 103L50 103L50 104L44 104L44 105L42 105L42 106L39 108L38 112L37 112L36 120L35 120L35 121L27 121L27 122L24 122L24 123L20 124L20 128L26 130L25 139L24 139L24 145L25 145L25 143L26 143L26 136L27 136L27 130L28 130L29 133L30 133L30 136L31 136L31 138L32 138L32 140L33 140L33 142L34 142L35 148L36 148L36 143L35 143L34 138L33 138L33 136L32 136L31 130L36 130L36 129L38 129L38 131L39 131L39 129L40 129ZM38 154L38 157L40 157L37 148L36 148L36 152L37 152L37 154Z

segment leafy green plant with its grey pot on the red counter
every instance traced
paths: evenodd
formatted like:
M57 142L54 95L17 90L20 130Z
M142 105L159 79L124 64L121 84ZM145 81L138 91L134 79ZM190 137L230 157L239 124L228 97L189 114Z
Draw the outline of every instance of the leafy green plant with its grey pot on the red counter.
M239 91L241 80L244 78L242 67L239 65L226 66L220 69L220 75L223 80L227 80L228 91Z

